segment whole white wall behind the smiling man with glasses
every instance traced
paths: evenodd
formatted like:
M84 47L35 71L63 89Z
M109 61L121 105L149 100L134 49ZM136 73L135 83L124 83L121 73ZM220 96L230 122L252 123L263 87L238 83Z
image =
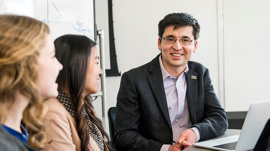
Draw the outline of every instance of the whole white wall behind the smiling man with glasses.
M107 0L95 2L98 29L105 31L109 69L108 4ZM247 111L251 102L270 100L269 3L268 0L115 0L113 26L120 71L124 73L151 61L160 53L158 22L168 13L187 12L201 25L198 49L191 60L209 69L214 90L226 111ZM120 80L121 77L106 77L107 109L116 106Z

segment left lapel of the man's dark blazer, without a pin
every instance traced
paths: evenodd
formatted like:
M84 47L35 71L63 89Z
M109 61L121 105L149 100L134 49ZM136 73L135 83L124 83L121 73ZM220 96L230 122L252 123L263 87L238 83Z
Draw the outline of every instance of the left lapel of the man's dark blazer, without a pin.
M164 85L163 85L162 73L161 73L159 60L158 60L158 57L160 55L161 54L159 54L156 58L154 58L150 62L149 72L152 74L147 76L147 79L149 81L149 85L152 89L152 92L155 96L155 99L158 103L158 106L161 109L161 112L163 113L167 123L172 128L168 105L167 105L167 100L166 100L166 95L165 95L165 90L164 90Z

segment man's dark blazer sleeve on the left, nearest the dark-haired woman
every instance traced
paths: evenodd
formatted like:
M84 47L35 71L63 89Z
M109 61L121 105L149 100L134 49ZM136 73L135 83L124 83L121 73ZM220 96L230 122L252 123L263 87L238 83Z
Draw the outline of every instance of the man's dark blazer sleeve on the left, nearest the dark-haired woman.
M122 75L117 95L115 114L115 135L113 142L118 151L160 150L162 143L149 140L139 132L140 96L128 73Z

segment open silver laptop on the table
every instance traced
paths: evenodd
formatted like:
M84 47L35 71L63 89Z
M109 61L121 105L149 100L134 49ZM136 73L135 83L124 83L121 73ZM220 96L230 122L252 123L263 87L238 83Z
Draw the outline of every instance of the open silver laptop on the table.
M218 138L194 143L194 146L213 150L243 151L253 150L262 130L270 118L270 101L251 103L240 135ZM224 145L226 144L226 145ZM236 147L224 149L224 146L235 144Z

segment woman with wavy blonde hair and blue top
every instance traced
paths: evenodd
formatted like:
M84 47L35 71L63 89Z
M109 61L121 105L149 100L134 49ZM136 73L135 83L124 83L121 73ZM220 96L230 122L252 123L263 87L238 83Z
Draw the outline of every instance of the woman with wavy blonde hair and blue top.
M58 95L61 69L45 23L0 15L1 150L44 149L43 100Z

